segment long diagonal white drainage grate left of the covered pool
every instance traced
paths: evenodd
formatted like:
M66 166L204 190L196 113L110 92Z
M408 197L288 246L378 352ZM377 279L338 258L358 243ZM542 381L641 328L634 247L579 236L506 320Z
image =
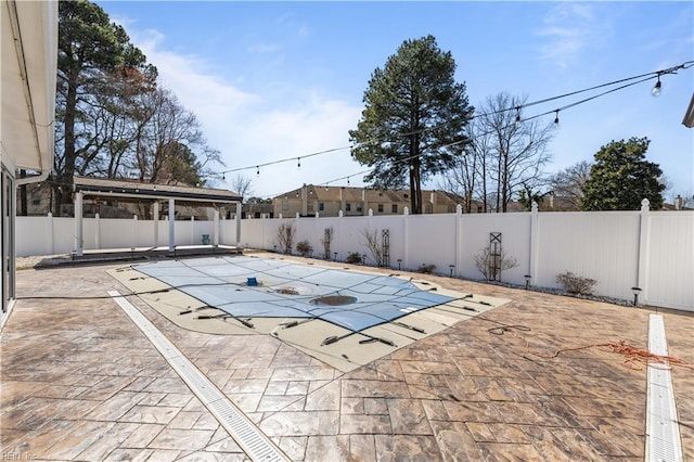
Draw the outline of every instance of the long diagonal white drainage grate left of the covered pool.
M254 461L280 462L288 459L253 422L244 415L183 354L169 342L136 307L117 291L108 291L114 300L144 333L152 345L215 415L229 435Z

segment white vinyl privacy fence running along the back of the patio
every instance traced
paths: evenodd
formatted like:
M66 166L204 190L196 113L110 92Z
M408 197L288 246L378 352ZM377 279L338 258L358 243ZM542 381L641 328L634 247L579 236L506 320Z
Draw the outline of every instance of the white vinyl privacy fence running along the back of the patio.
M163 220L165 221L165 220ZM85 249L154 246L154 224L147 220L85 219ZM642 290L639 301L694 311L694 211L573 211L457 214L245 219L236 236L234 220L219 221L219 244L278 249L278 230L295 230L294 247L308 241L312 256L324 255L324 230L333 228L331 259L348 254L367 256L374 265L364 230L389 236L389 267L416 270L435 265L435 272L483 279L475 256L489 246L490 233L500 233L502 252L518 265L501 280L541 287L558 287L556 275L571 271L597 280L595 293L632 299L631 287ZM16 255L65 254L75 247L73 218L17 217ZM214 221L176 221L176 245L200 245L213 234ZM159 224L157 244L168 243L168 226Z

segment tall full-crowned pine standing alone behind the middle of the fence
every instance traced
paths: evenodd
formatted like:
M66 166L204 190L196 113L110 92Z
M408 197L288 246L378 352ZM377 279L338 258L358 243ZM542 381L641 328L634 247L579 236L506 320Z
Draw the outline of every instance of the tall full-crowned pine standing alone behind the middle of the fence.
M406 40L373 72L361 120L349 131L354 157L373 167L365 181L381 189L409 184L413 214L422 213L421 183L451 168L467 143L463 129L474 108L454 73L451 53L433 36Z

